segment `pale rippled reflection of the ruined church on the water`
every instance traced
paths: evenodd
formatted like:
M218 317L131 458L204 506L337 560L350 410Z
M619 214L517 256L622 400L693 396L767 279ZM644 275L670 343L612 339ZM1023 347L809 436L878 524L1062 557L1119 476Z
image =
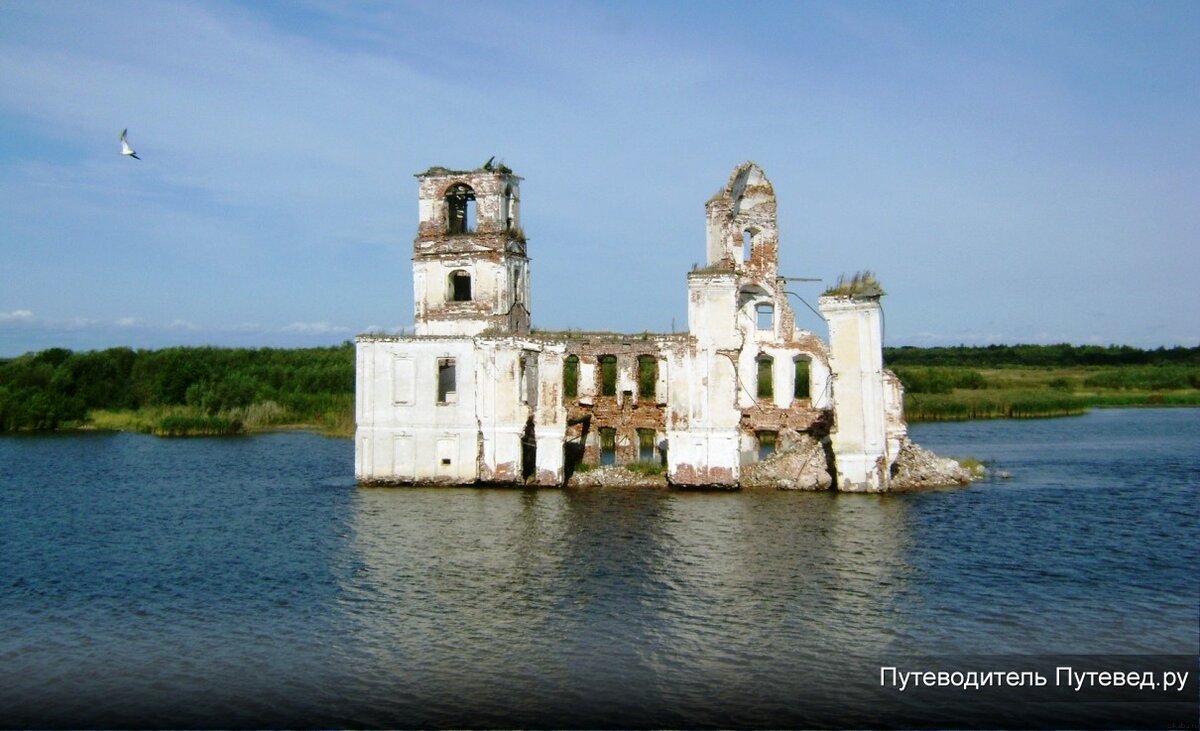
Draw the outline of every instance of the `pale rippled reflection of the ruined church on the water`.
M902 624L890 611L906 571L900 501L360 497L360 565L343 606L352 654L373 666L364 682L403 678L391 711L420 707L418 723L695 726L734 712L767 723L845 672L847 655L886 648ZM456 715L463 697L470 719Z

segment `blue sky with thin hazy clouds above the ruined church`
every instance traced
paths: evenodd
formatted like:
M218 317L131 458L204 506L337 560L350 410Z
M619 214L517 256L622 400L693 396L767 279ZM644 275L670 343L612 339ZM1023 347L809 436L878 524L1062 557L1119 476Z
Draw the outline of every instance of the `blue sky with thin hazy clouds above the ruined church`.
M535 326L684 329L754 160L887 344L1195 346L1198 131L1196 2L5 1L0 356L410 326L413 174L492 155Z

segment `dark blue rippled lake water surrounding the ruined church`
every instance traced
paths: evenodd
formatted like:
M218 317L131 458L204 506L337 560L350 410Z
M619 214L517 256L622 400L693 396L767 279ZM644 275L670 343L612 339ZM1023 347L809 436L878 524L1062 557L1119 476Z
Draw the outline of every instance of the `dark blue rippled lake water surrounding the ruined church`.
M310 433L2 438L0 725L886 726L926 718L904 657L1200 652L1200 409L911 431L1012 479L360 489Z

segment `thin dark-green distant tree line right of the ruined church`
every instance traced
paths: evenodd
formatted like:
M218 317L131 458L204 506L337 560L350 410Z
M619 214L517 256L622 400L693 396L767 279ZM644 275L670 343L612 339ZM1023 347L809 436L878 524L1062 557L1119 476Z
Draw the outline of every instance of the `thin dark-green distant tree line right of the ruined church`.
M1200 365L1200 347L1142 350L1129 346L954 346L938 348L883 348L889 366L1118 366Z

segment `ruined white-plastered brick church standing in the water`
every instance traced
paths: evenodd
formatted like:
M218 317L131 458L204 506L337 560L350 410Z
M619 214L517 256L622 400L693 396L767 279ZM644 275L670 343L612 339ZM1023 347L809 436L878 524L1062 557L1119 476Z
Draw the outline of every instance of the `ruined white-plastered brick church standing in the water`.
M893 486L906 427L882 292L821 296L828 341L797 325L757 164L706 204L688 330L662 335L532 330L522 179L491 162L416 178L413 334L356 338L360 483L559 486L649 463L672 486Z

